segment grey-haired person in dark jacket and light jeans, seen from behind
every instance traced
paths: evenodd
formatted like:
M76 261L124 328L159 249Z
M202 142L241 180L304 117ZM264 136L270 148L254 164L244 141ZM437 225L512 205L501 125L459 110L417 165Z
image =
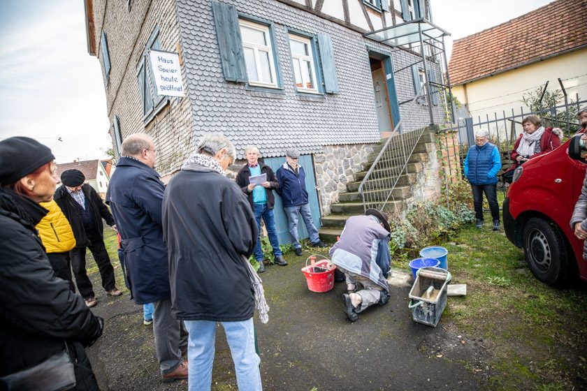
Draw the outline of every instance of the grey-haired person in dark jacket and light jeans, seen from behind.
M229 341L238 389L261 390L252 319L259 296L247 260L259 231L247 197L225 177L234 155L224 135L205 135L163 199L173 312L189 331L190 390L210 390L216 322Z

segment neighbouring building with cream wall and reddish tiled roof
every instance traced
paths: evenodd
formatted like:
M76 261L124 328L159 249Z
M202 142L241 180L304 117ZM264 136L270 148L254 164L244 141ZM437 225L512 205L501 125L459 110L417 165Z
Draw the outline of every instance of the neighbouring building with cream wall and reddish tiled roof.
M452 92L475 121L519 110L523 94L544 87L587 98L587 0L557 0L454 41ZM528 108L524 108L528 110ZM519 128L521 131L521 127Z

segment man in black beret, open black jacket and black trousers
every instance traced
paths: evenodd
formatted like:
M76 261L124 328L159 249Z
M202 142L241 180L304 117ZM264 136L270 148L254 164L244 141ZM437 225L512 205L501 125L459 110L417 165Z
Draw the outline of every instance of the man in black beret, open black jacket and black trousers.
M104 245L102 219L116 229L114 219L100 195L84 181L85 175L80 170L65 170L61 173L63 186L57 189L55 202L65 214L75 236L75 249L69 253L75 283L87 307L94 307L97 300L86 272L86 248L92 251L96 260L106 294L119 296L122 292L116 288L114 268Z

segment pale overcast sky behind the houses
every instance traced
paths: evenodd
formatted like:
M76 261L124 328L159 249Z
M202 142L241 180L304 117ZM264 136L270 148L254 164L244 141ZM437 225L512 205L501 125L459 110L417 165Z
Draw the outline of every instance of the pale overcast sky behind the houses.
M430 1L435 24L452 39L549 2ZM105 158L110 124L101 66L87 53L83 1L0 0L0 39L0 140L36 138L58 163Z

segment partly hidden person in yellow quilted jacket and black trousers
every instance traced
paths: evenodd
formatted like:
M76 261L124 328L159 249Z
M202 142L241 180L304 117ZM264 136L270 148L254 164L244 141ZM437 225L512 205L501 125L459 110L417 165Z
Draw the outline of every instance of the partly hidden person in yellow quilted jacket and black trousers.
M75 286L71 279L71 259L69 258L69 250L75 247L73 231L55 200L40 202L40 204L49 211L36 226L43 246L45 246L45 252L55 275L69 281L69 287L75 292Z

